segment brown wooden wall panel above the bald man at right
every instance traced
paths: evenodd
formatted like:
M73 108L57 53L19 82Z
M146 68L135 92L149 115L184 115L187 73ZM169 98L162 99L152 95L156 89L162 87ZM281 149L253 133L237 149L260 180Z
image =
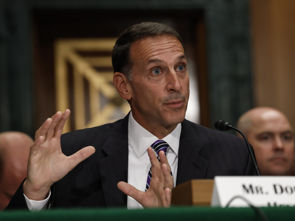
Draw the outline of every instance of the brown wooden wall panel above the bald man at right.
M283 111L295 128L295 1L251 0L255 106Z

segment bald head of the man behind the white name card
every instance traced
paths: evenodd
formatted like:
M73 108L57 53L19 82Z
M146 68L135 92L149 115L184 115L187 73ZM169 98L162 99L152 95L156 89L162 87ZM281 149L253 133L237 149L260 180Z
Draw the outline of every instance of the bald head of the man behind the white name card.
M270 107L253 108L240 116L236 127L253 146L261 175L290 175L295 156L294 132L281 111Z

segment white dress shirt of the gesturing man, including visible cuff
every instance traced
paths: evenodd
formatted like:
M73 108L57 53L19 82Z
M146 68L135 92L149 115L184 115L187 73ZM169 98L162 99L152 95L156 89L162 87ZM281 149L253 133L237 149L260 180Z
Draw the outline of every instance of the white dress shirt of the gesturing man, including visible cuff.
M181 124L178 124L170 134L162 139L169 144L166 156L172 170L174 186L176 184L180 133ZM147 150L156 140L158 138L138 124L134 120L132 113L130 113L128 120L128 183L141 191L145 191L146 189L148 170L150 168ZM50 195L51 192L49 192L46 199L41 201L30 200L25 195L29 210L40 211L45 208ZM127 208L136 209L143 207L136 200L128 196Z

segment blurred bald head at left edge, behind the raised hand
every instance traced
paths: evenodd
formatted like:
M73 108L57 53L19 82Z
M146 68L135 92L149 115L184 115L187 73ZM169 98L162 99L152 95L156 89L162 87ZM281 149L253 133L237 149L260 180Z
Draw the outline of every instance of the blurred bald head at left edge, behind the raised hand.
M0 210L9 203L27 177L29 149L33 139L22 132L0 133Z

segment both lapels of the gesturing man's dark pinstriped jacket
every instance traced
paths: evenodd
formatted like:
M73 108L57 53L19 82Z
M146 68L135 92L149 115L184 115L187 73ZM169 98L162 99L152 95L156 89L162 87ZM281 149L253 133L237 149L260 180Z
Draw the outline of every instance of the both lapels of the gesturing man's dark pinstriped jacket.
M112 129L102 147L107 155L99 161L102 189L107 207L126 207L127 195L117 184L128 180L128 118L129 114ZM201 157L203 144L187 120L181 124L178 151L177 185L193 179L205 179L208 162Z

